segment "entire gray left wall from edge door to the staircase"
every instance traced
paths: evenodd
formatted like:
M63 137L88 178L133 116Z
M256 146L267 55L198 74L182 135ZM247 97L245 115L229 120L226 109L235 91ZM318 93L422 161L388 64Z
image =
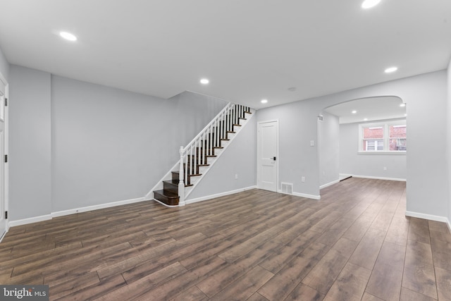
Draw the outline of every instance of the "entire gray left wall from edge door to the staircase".
M11 221L144 197L226 105L11 66Z

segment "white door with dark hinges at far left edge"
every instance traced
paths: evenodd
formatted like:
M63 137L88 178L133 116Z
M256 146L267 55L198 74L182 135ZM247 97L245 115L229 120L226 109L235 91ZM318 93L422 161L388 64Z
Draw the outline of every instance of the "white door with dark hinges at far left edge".
M6 172L6 80L0 74L0 240L6 233L6 193L7 193L7 172Z

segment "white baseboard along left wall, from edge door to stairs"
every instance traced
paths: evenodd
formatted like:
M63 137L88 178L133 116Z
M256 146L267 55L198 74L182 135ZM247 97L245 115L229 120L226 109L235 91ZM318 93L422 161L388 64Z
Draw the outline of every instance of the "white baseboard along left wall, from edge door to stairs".
M76 209L56 211L56 212L52 212L51 214L47 214L47 215L43 215L43 216L35 216L35 217L30 217L29 219L19 219L17 221L10 221L8 223L8 226L14 227L14 226L26 225L28 223L36 223L38 221L48 221L49 219L53 219L54 217L57 217L57 216L65 216L65 215L76 214L76 213L80 213L80 212L93 211L93 210L104 209L104 208L109 208L109 207L116 207L116 206L121 206L121 205L125 205L125 204L143 202L145 200L146 199L144 197L138 197L137 199L126 199L125 201L110 202L110 203L99 204L99 205L94 205L94 206L87 206L87 207L80 207L80 208L76 208Z

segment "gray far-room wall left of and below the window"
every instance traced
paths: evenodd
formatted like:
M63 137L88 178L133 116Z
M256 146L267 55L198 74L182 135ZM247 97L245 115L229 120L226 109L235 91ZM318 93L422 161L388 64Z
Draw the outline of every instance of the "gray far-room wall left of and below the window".
M406 179L406 154L359 154L358 149L359 123L340 125L340 173Z

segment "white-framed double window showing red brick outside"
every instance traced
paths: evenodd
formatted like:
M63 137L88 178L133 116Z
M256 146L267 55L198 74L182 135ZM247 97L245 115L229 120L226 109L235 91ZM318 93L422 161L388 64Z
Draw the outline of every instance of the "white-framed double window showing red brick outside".
M359 125L359 152L397 152L407 150L406 121Z

